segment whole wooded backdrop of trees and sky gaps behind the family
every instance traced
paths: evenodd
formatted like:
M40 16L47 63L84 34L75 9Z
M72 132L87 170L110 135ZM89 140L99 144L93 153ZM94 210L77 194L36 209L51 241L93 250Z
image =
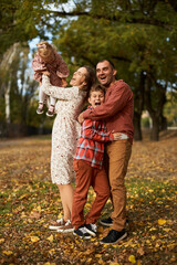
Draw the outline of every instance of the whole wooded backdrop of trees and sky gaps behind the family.
M114 62L134 93L135 140L142 127L150 126L156 141L177 126L176 1L1 0L0 21L0 137L51 131L53 119L35 114L29 44L37 38L56 46L69 80L81 65Z

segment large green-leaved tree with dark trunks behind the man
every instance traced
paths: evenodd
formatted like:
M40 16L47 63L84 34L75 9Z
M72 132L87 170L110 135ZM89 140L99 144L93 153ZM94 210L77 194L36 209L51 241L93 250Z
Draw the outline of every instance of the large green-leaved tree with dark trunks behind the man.
M153 140L158 140L163 127L166 91L176 82L176 6L170 2L91 1L88 11L63 25L55 41L74 64L114 61L117 77L134 92L137 140L143 109L153 119Z

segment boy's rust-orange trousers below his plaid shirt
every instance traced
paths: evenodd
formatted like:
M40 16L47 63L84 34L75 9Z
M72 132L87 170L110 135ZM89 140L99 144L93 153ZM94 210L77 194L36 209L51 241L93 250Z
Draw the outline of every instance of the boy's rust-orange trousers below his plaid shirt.
M95 223L97 221L102 209L110 198L111 191L104 168L93 168L84 160L74 160L73 167L76 172L76 188L72 206L72 224L76 230L81 225ZM90 213L84 219L84 205L91 186L96 193L96 198Z

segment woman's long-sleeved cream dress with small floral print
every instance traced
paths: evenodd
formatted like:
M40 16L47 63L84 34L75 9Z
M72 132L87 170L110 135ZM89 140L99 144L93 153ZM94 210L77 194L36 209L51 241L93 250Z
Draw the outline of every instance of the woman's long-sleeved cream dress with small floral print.
M56 117L52 129L51 178L56 184L74 182L73 157L80 137L81 126L76 121L82 110L85 92L73 87L51 86L49 77L43 75L42 89L58 98L55 105Z

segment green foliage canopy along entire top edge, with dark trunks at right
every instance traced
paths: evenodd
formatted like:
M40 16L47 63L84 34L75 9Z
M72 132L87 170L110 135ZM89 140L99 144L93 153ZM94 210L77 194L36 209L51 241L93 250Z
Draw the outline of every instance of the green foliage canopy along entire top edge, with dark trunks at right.
M2 1L1 50L49 32L72 71L110 59L135 98L136 139L147 109L158 140L168 87L176 88L177 4L166 0Z

